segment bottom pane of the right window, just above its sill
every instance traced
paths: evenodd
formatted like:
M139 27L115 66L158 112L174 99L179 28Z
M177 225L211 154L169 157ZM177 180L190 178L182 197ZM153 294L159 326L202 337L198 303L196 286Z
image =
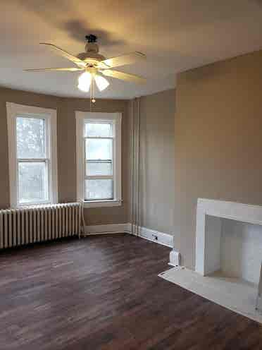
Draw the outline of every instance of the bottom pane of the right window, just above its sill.
M85 199L113 199L113 180L111 179L88 179L85 180Z

